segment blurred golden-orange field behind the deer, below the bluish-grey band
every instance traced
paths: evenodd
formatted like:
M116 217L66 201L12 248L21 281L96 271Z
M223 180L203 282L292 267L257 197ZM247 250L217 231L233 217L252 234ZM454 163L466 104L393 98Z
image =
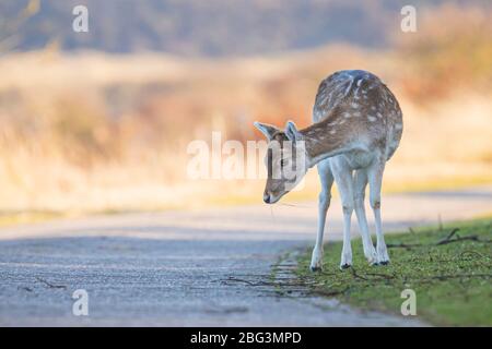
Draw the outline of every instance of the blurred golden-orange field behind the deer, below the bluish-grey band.
M457 15L459 13L459 16ZM492 182L491 13L443 8L391 49L330 45L224 59L163 53L0 57L0 212L43 216L259 202L263 180L192 181L191 140L261 139L254 120L311 123L319 82L379 75L398 97L403 140L386 190ZM446 24L446 25L443 25ZM306 190L317 195L315 172ZM1 220L1 219L0 219Z

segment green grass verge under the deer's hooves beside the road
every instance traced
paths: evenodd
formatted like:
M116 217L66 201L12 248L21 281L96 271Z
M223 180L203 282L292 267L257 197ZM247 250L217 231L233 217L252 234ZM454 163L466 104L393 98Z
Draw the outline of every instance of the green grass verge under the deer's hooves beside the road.
M401 291L413 289L417 316L427 323L492 326L491 242L490 217L386 234L390 265L368 266L358 239L352 241L353 267L343 272L338 268L341 243L328 243L324 270L308 270L309 250L300 257L297 275L315 293L363 310L401 315Z

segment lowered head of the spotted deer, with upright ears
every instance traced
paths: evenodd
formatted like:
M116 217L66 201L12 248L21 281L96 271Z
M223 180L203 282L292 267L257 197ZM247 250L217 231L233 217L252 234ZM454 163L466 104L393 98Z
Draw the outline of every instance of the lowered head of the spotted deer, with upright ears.
M273 125L255 122L268 140L265 166L268 170L263 201L267 204L277 203L289 193L306 174L308 169L307 154L303 134L292 121L280 130Z

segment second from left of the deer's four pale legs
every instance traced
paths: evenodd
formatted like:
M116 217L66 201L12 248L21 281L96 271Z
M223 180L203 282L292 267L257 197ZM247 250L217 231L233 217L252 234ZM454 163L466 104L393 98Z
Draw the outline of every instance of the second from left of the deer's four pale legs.
M340 192L343 209L343 248L341 253L340 269L352 265L352 246L350 243L350 220L353 213L353 178L352 170L340 158L332 160L333 177Z

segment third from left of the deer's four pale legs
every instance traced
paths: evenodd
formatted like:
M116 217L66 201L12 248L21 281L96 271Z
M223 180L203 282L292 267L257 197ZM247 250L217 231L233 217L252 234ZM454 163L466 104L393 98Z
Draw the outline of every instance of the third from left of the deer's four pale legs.
M374 249L373 241L367 225L367 218L365 216L364 198L365 188L367 185L367 170L360 169L355 171L353 179L354 188L354 208L355 216L358 217L359 230L362 237L362 245L364 248L364 255L370 264L377 263L376 250Z

